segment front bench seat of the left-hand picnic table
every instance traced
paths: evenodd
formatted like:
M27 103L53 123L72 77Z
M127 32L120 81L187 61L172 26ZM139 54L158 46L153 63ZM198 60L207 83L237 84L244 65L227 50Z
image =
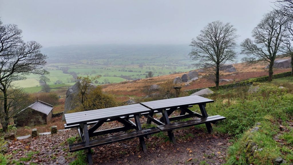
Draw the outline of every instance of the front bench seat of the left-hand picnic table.
M75 152L79 150L88 149L91 147L97 147L100 145L110 144L113 142L119 142L122 140L129 140L139 136L151 135L160 132L158 128L152 127L143 130L136 130L132 132L127 132L119 135L113 135L108 137L101 137L95 140L90 140L89 143L80 142L75 144L69 144L69 152Z

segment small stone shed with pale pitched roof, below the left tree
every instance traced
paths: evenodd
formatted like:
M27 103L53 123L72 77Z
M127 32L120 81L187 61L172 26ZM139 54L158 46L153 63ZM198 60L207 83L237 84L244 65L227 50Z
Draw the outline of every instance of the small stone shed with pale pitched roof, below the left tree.
M52 105L37 100L13 117L14 124L21 127L48 124L52 119L52 110Z

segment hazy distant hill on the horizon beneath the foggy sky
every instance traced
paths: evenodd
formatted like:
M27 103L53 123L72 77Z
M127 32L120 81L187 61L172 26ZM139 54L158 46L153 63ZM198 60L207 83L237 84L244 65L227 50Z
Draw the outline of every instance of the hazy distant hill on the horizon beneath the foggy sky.
M56 63L60 60L70 63L85 59L139 60L148 57L149 60L152 57L190 60L188 57L190 50L188 45L68 45L42 48L42 53L48 56L48 63Z

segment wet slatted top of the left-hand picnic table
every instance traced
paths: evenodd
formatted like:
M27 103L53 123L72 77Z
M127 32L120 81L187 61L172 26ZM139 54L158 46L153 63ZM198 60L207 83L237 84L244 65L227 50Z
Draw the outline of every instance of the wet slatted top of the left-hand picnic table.
M149 111L151 111L151 109L142 106L141 104L132 104L128 106L119 106L97 110L88 110L83 112L66 113L64 114L64 117L66 120L66 125L74 125L109 118L117 118L127 115L135 115Z

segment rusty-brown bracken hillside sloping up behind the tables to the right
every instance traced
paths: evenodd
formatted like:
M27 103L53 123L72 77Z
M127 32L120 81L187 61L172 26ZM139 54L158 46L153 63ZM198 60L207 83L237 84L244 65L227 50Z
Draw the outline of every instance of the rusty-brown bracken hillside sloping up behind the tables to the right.
M267 76L268 71L264 69L266 66L265 63L263 64L254 64L252 66L246 66L243 63L233 64L236 68L237 72L235 73L225 73L222 72L220 79L232 79L233 81L230 82L222 82L220 85L239 82L243 80L247 80L250 78L260 77L260 76ZM196 69L197 71L198 69ZM274 69L274 74L288 72L291 71L290 68L287 69ZM188 72L184 72L188 73ZM149 79L142 79L136 81L126 81L116 84L107 84L103 85L103 90L108 91L114 95L116 95L120 100L126 101L129 97L141 97L145 94L143 93L143 88L146 84L161 84L166 81L172 81L176 76L181 77L184 73L176 73L164 76L153 77ZM199 76L205 76L207 73L199 73ZM177 84L174 86L183 86L181 90L188 90L188 89L197 89L197 88L205 88L210 86L215 86L214 82L210 81L207 77L202 77L192 83L189 83L190 86L184 86L185 83Z

